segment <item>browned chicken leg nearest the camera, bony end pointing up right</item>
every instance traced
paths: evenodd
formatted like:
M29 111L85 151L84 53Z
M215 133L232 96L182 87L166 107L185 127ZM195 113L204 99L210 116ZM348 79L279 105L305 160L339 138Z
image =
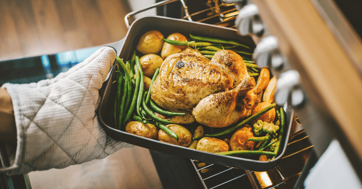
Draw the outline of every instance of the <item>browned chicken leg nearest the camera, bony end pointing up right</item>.
M238 103L238 98L256 85L253 77L245 78L235 89L207 96L202 99L192 115L198 123L210 127L226 127L243 118L247 112L245 105Z

